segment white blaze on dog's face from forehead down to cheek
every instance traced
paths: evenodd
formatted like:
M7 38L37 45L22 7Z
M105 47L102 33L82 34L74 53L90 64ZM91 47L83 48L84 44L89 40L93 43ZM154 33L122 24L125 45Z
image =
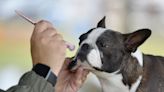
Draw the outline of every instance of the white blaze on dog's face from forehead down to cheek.
M80 53L86 55L86 60L92 67L101 68L102 67L102 54L96 45L97 39L101 36L106 29L97 28L93 29L91 33L88 34L87 38L80 44ZM86 53L88 51L88 53Z

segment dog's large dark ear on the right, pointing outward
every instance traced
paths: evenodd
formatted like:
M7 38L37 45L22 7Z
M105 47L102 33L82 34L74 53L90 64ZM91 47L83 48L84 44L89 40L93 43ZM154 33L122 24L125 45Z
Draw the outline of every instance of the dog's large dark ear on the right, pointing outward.
M126 50L135 52L137 48L151 35L150 29L140 29L133 33L124 34Z

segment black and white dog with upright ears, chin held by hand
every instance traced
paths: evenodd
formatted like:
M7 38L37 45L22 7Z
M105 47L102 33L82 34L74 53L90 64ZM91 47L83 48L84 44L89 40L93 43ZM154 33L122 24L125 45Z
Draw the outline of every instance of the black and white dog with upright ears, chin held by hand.
M142 54L137 48L151 35L149 29L122 34L97 28L80 36L72 69L83 66L99 79L103 92L164 92L164 58Z

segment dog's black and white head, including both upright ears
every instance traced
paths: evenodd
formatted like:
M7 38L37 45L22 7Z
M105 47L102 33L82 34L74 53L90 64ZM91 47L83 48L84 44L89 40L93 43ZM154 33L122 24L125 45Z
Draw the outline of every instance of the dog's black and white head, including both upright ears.
M151 34L149 29L121 34L105 28L105 17L97 28L80 36L79 50L75 56L80 65L91 70L116 72L124 58L135 52Z

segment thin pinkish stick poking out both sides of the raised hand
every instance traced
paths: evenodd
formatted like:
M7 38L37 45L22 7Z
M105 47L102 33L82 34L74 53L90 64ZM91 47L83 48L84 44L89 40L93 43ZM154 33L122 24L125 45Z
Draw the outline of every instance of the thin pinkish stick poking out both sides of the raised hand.
M28 22L30 22L31 24L35 25L37 22L33 21L32 19L30 19L29 17L25 16L22 12L18 11L18 10L15 10L15 13L17 15L19 15L20 17L22 17L23 19L27 20ZM70 51L73 51L75 50L75 45L69 43L69 42L66 42L66 45L67 45L67 48L70 50Z

